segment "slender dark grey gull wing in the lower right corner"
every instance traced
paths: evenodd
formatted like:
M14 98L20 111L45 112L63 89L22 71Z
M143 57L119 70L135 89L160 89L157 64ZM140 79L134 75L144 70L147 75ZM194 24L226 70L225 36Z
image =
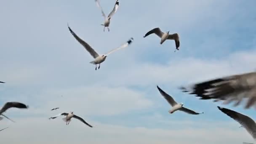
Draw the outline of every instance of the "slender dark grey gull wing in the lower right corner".
M256 123L254 122L254 120L252 120L247 115L240 114L239 112L235 112L230 109L226 109L219 106L218 109L221 110L221 112L223 112L224 114L234 119L235 121L237 121L238 123L240 123L240 125L243 125L246 131L250 133L254 140L256 140Z

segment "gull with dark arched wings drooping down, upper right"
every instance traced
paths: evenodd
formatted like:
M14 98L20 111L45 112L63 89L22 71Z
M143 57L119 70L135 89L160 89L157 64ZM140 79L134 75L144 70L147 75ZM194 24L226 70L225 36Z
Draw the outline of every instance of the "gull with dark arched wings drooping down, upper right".
M177 33L169 35L169 32L170 31L167 31L166 33L163 33L161 31L161 29L159 27L157 27L157 28L151 29L149 32L147 32L146 35L144 35L144 37L147 37L148 35L151 35L152 33L155 33L158 37L161 38L160 45L162 45L163 42L165 42L165 40L174 40L175 45L176 45L176 49L179 50L179 45L180 45L179 35Z

